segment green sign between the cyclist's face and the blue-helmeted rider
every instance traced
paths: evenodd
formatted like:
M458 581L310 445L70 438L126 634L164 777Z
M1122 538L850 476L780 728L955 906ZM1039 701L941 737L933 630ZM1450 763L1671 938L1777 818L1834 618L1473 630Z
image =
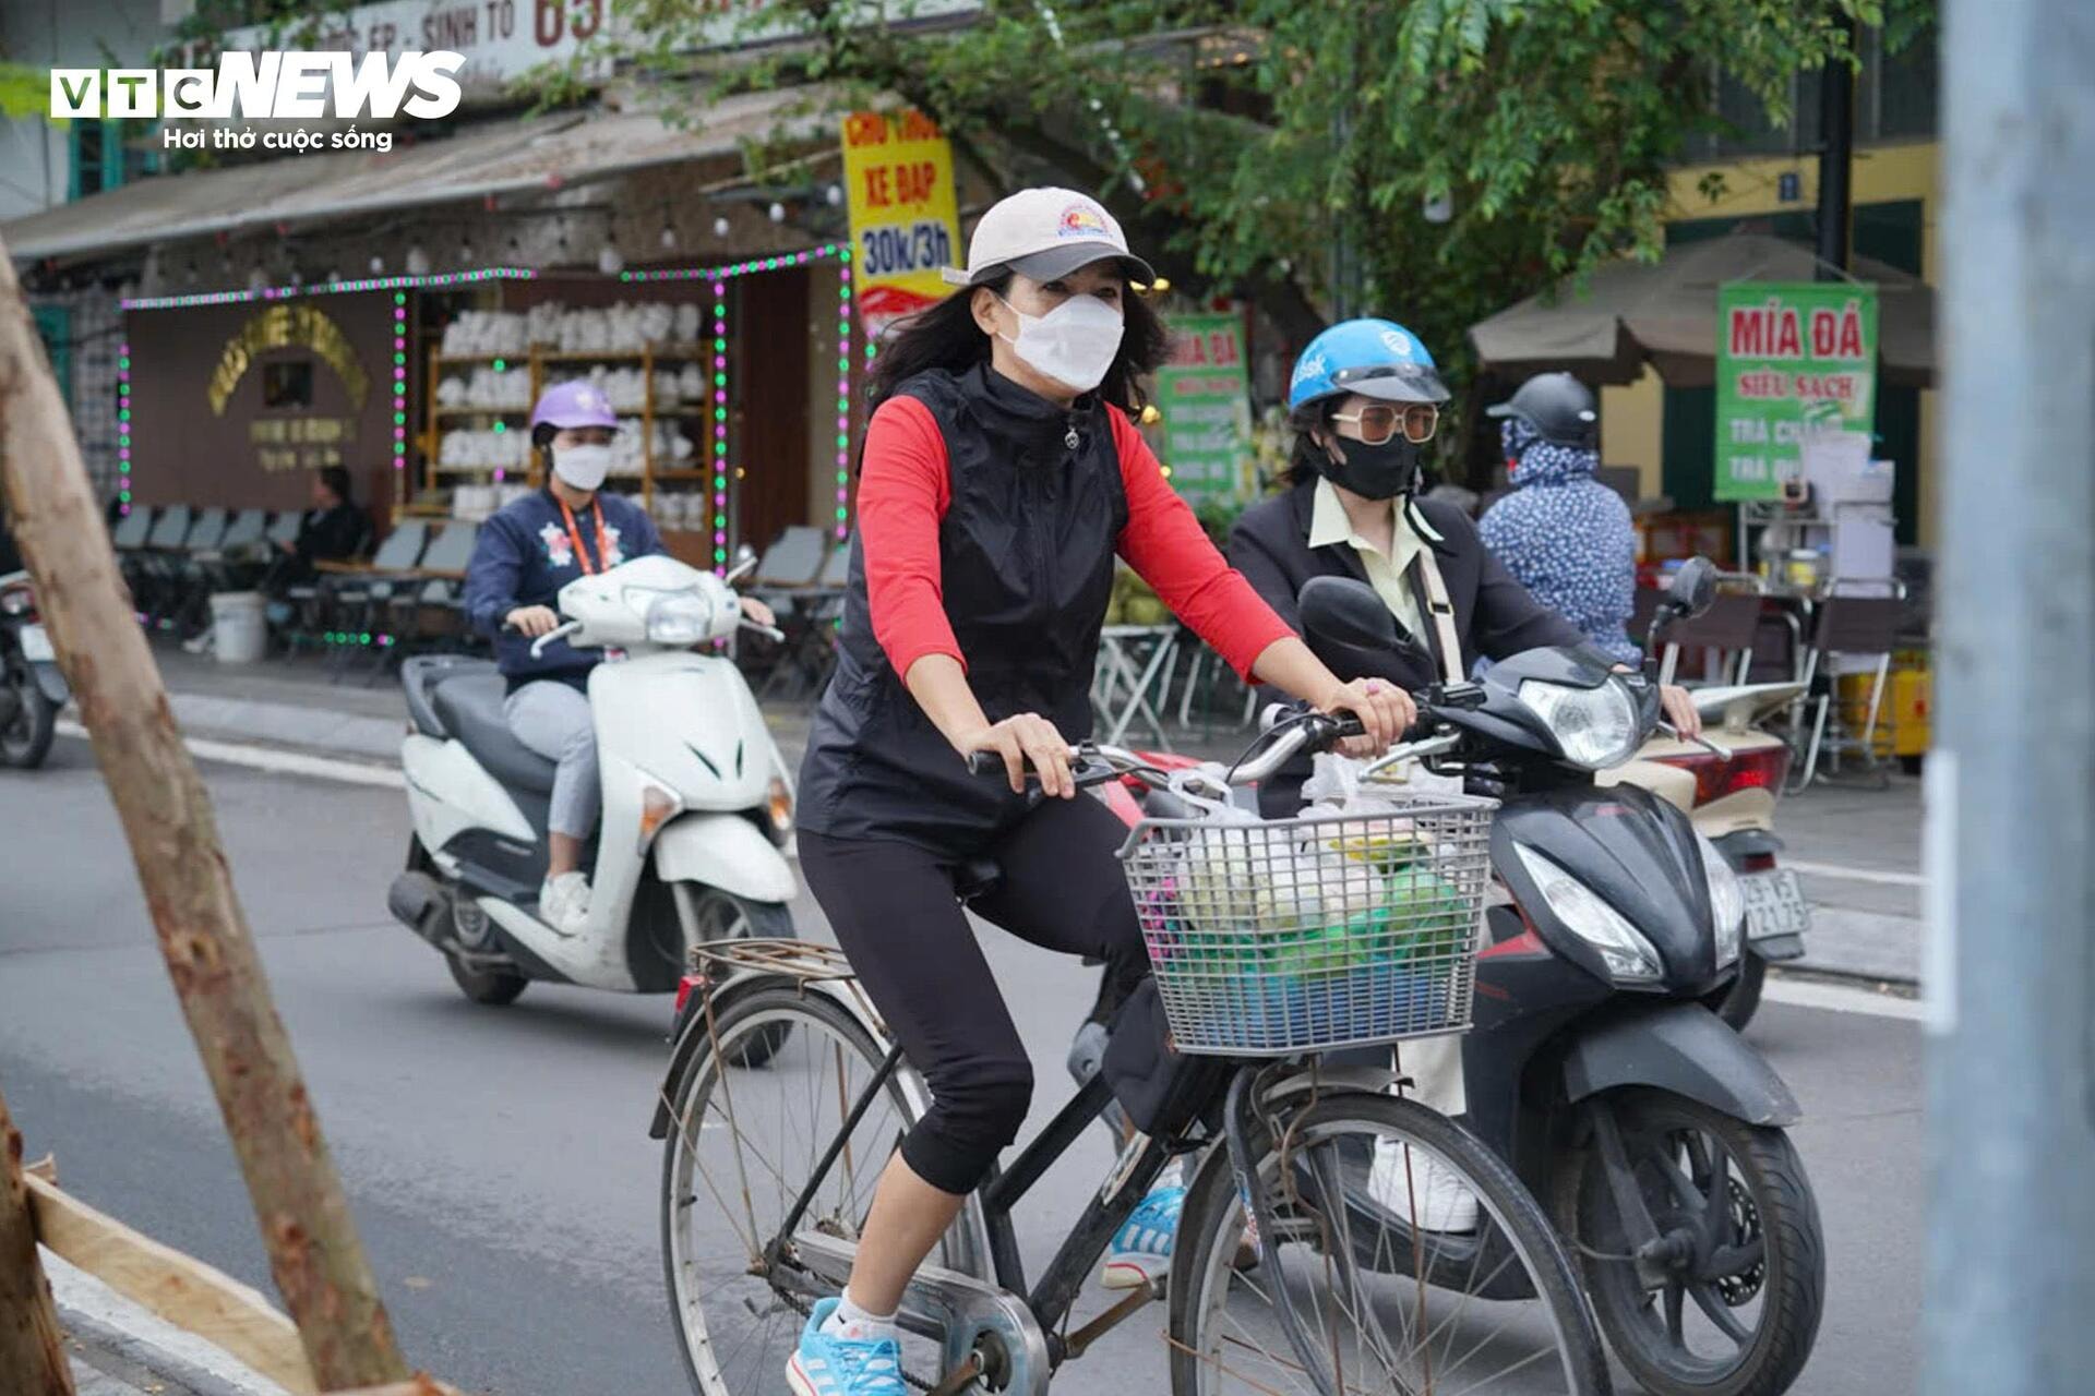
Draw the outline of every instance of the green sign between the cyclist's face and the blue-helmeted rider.
M1156 454L1179 494L1198 504L1249 492L1251 377L1240 316L1171 316L1156 410L1163 414Z

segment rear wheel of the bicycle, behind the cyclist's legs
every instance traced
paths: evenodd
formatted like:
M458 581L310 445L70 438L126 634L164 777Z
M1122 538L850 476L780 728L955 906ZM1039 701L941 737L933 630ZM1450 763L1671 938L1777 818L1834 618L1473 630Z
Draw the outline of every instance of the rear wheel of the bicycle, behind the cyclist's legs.
M790 986L735 996L712 1034L670 1088L662 1155L662 1264L677 1344L702 1396L786 1392L786 1358L811 1298L767 1254L886 1049L825 994ZM901 1074L886 1082L796 1233L857 1239L920 1099ZM932 1262L980 1275L978 1226L972 1208L962 1212ZM905 1356L922 1356L911 1352L916 1342L905 1342ZM920 1371L936 1367L936 1356L918 1363Z

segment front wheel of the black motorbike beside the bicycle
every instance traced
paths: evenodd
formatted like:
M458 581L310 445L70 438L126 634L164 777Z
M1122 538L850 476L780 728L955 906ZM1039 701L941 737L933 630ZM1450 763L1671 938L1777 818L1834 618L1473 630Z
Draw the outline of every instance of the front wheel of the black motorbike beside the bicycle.
M1596 1107L1615 1113L1661 1258L1657 1283L1638 1275L1588 1130L1559 1174L1557 1216L1615 1356L1657 1396L1787 1392L1825 1304L1818 1203L1789 1136L1668 1090Z

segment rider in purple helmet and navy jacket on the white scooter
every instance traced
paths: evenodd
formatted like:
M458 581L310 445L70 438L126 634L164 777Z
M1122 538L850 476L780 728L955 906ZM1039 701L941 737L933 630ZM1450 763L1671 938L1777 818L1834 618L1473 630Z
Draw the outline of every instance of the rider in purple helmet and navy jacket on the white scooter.
M589 921L582 848L597 827L597 728L589 712L589 672L603 655L553 640L532 655L532 640L559 626L559 588L635 557L662 553L654 519L633 500L605 492L618 416L591 383L555 383L530 414L530 442L545 469L545 490L526 494L480 527L465 571L465 615L494 636L494 657L509 680L509 730L555 762L549 862L538 919L568 936ZM760 601L744 613L771 624Z

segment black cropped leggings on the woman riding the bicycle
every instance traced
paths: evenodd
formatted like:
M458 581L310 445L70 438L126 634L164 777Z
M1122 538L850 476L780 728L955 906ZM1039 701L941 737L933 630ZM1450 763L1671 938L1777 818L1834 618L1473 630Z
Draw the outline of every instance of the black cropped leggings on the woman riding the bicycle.
M974 910L1043 950L1106 961L1119 1000L1150 971L1115 848L1127 827L1089 795L1048 800L983 850L1004 881ZM970 1193L1024 1124L1033 1061L974 927L953 900L957 866L913 843L800 831L800 869L888 1032L930 1086L903 1159L945 1193Z

